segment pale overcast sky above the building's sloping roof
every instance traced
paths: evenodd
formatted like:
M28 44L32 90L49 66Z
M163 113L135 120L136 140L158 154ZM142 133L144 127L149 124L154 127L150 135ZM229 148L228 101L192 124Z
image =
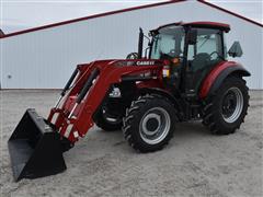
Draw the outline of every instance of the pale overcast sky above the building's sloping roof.
M167 0L0 0L0 28L7 34ZM263 23L263 0L207 0Z

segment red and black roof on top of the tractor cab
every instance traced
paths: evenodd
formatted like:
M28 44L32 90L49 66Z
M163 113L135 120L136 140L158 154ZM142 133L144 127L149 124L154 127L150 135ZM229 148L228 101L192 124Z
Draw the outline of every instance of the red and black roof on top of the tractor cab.
M184 23L184 22L176 22L176 23L170 23L165 25L161 25L156 30L152 30L150 32L158 32L160 28L165 27L165 26L193 26L193 27L207 27L207 28L217 28L217 30L222 30L225 32L230 31L230 25L226 23L217 23L217 22L209 22L209 21L198 21L198 22L190 22L190 23Z

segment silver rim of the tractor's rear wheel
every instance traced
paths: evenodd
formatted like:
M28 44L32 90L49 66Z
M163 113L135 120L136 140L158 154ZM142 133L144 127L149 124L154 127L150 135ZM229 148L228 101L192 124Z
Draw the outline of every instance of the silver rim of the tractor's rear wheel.
M238 88L230 88L224 95L221 114L225 121L235 123L243 109L243 94Z

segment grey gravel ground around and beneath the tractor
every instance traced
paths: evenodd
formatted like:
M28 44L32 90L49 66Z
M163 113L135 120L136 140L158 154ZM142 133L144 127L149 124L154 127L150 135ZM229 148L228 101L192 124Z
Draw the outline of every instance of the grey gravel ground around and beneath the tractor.
M0 196L263 196L263 95L235 135L213 136L201 123L179 124L162 151L136 153L119 131L89 131L64 154L67 171L13 182L7 141L27 107L47 116L57 91L1 91Z

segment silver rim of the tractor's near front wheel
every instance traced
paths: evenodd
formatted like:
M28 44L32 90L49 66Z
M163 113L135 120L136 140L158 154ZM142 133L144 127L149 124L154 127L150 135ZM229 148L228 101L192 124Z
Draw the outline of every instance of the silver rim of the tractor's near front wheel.
M148 144L161 142L169 134L171 118L162 107L155 107L146 112L139 124L141 139Z

